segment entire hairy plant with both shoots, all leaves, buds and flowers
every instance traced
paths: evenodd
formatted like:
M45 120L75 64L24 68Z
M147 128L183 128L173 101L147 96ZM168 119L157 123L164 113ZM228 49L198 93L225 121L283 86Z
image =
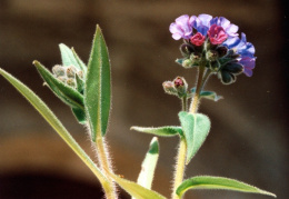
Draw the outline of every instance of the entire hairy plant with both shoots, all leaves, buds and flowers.
M111 77L108 48L99 27L93 37L91 53L86 64L73 48L60 44L62 64L56 64L52 72L39 61L33 61L44 84L69 108L79 123L87 127L91 138L96 161L83 151L63 125L46 103L27 86L10 73L0 69L6 78L41 113L49 125L59 133L67 145L88 166L99 179L107 199L117 199L116 185L126 190L133 199L165 199L152 190L155 170L159 158L157 137L178 137L179 151L176 158L176 171L171 189L172 199L183 198L186 191L195 189L225 189L276 197L248 183L223 177L196 176L183 179L186 167L203 145L210 130L210 119L198 112L201 98L218 101L221 99L213 91L205 91L205 84L211 74L217 74L222 83L236 81L236 76L252 76L256 57L255 47L247 42L245 33L237 33L238 27L226 18L212 18L209 14L198 17L181 16L170 24L170 32L176 40L183 39L180 47L182 58L177 63L186 69L198 69L196 87L182 77L162 83L165 92L181 100L179 126L157 128L131 127L132 130L153 135L149 150L141 165L137 182L114 173L111 167L106 135L110 115ZM190 106L188 106L190 101ZM123 160L129 161L129 160ZM158 186L158 185L156 185Z

